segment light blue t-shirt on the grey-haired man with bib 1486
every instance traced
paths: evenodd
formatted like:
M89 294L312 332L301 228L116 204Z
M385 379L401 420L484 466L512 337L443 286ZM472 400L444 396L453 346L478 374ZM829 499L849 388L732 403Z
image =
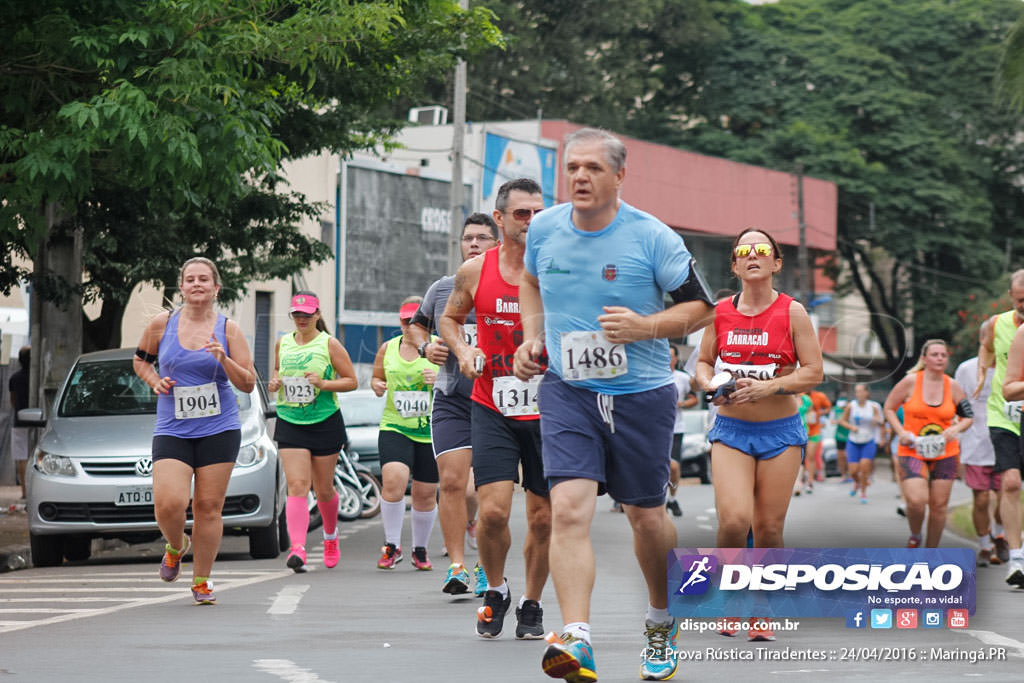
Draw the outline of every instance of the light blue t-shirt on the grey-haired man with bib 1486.
M529 224L523 259L541 285L548 367L559 377L564 377L563 333L600 330L603 306L626 306L640 315L664 310L666 292L682 286L691 260L672 228L625 202L615 219L596 232L572 224L571 204L545 209ZM572 384L616 395L673 383L666 339L627 344L626 355L625 375Z

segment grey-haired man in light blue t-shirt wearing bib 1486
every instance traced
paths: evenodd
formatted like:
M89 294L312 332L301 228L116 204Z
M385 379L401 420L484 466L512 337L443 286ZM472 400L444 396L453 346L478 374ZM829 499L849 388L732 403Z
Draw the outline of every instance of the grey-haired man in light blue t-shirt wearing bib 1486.
M666 337L711 322L711 293L683 240L618 199L626 146L603 130L565 139L569 204L548 209L529 230L519 285L523 343L515 373L541 384L544 467L551 486L551 575L565 622L548 636L545 673L597 680L590 644L594 551L590 526L603 486L633 528L647 584L640 676L676 672L679 633L669 615L667 556L676 528L665 514L675 425ZM665 308L665 295L676 303Z

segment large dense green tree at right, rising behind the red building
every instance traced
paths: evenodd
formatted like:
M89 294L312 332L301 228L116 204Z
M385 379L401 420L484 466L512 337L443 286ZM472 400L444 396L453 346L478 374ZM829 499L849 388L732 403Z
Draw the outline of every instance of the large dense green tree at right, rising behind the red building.
M719 9L729 38L679 102L690 118L676 139L836 181L839 252L889 362L916 354L906 326L918 340L951 339L969 291L993 282L1024 237L1022 121L991 88L1020 3Z

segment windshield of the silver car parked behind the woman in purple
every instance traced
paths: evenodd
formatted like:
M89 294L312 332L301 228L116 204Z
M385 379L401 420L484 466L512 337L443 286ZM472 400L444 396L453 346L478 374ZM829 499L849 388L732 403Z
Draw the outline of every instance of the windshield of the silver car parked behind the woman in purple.
M231 387L234 389L234 387ZM249 394L234 389L239 410L252 405ZM132 369L131 358L79 362L57 408L61 418L97 415L146 415L157 412L157 394Z

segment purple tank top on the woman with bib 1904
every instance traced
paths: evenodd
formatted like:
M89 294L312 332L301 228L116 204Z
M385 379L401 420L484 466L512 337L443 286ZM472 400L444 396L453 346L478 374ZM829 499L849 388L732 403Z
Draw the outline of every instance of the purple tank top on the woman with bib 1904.
M160 339L159 368L161 377L170 377L176 382L171 392L160 394L157 397L157 426L153 433L157 436L180 436L182 438L197 438L200 436L210 436L231 429L240 429L239 403L234 398L227 373L217 362L212 353L205 350L191 351L182 348L178 343L178 313L175 310L167 319L167 327L164 328L164 336ZM227 352L227 335L225 328L227 317L218 313L217 323L214 325L213 334ZM220 414L206 417L179 419L176 418L175 408L195 409L196 400L191 401L183 398L180 387L196 387L204 384L214 383L217 391L217 401L220 404ZM174 389L179 389L176 398ZM200 398L203 405L208 408L209 401ZM178 403L181 402L181 405Z

